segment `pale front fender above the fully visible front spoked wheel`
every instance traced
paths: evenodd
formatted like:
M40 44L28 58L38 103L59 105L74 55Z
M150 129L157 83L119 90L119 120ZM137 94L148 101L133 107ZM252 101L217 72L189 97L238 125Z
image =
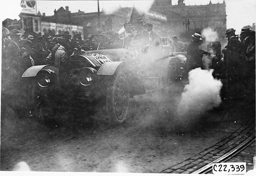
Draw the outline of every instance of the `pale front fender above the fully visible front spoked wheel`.
M126 67L128 68L127 62L105 62L102 64L102 66L99 68L97 75L113 75L115 73L115 70L120 67Z

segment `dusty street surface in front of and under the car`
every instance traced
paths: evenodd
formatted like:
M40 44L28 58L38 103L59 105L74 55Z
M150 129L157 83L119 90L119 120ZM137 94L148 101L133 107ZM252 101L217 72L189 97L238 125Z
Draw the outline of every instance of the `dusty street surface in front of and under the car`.
M159 173L229 136L255 118L255 102L225 101L206 112L176 114L178 97L155 92L130 99L129 117L104 123L100 108L63 108L58 123L39 123L2 103L1 166L24 161L32 171Z

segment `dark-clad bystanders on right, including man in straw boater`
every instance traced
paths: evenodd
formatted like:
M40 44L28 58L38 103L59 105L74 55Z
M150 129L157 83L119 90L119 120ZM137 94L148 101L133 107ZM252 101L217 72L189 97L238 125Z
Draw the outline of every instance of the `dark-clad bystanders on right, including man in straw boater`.
M224 54L221 73L226 78L227 98L253 98L255 100L255 31L241 29L240 40L233 28L226 30L228 44L222 50ZM211 52L199 48L202 38L199 33L192 35L187 46L186 72L195 68L203 68L203 55ZM220 62L216 57L215 63ZM211 68L216 69L212 62Z

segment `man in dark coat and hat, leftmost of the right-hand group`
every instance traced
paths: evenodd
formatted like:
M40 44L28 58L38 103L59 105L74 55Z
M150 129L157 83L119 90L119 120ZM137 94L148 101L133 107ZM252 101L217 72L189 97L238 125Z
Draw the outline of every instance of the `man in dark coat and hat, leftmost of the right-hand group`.
M243 45L237 40L233 28L226 30L228 44L224 49L224 66L227 77L228 98L238 97L244 89L245 58L242 57Z

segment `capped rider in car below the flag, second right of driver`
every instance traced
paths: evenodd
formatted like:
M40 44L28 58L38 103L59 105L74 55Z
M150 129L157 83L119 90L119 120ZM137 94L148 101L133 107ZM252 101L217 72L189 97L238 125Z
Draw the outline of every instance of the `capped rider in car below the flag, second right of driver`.
M143 27L143 19L134 19L132 26L134 27L135 33L130 42L130 48L142 47L144 49L145 46L149 46L149 34Z

